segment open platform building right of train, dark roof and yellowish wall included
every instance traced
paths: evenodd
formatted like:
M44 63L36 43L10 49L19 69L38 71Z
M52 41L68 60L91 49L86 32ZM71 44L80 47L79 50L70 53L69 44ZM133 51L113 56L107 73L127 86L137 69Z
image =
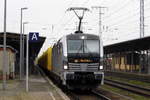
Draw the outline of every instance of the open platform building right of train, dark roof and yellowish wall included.
M105 71L150 74L150 37L104 47Z

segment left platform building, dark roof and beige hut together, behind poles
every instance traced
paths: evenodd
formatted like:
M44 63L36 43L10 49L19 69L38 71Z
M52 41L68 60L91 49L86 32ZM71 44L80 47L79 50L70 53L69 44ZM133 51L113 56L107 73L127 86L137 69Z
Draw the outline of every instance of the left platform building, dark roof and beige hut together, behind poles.
M3 32L0 32L0 73L2 74L2 64L3 64ZM26 65L26 35L24 38L24 63L22 64L22 76L25 75L25 65ZM38 42L29 43L29 74L36 73L34 67L34 60L37 57L44 41L45 37L39 37ZM13 72L13 77L19 75L20 73L20 34L7 32L6 33L6 45L7 45L7 76L11 76Z

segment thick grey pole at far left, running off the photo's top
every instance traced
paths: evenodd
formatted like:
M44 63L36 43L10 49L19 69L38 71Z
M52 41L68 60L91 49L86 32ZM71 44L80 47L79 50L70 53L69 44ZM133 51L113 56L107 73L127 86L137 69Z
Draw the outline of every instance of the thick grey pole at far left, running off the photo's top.
M6 9L7 0L4 1L4 38L3 38L3 90L6 90Z

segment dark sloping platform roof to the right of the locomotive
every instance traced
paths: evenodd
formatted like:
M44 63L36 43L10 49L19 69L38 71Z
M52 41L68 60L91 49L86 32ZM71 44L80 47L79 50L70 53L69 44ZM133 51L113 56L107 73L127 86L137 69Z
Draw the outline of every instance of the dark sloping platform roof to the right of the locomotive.
M150 49L150 36L104 46L104 53L110 54L117 52L141 51L148 49Z

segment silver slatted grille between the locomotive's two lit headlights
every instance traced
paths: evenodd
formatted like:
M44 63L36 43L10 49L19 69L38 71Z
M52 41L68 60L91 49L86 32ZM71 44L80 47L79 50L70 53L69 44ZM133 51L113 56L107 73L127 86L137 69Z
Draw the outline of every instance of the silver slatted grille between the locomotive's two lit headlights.
M69 70L72 71L97 71L98 63L69 63Z

